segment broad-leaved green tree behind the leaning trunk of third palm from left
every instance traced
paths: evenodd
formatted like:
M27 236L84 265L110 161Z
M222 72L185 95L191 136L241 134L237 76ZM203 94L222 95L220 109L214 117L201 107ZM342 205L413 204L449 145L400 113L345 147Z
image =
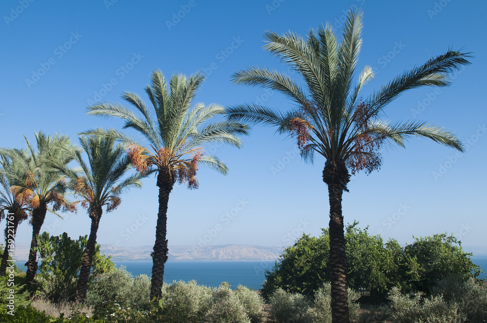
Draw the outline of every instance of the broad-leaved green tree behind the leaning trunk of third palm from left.
M38 236L37 251L41 264L39 266L40 281L46 296L55 301L73 300L78 285L78 275L84 261L88 245L88 235L79 239L71 239L67 233L59 236L44 232ZM93 273L90 278L104 272L114 270L111 256L100 255L100 245L95 245L92 263Z

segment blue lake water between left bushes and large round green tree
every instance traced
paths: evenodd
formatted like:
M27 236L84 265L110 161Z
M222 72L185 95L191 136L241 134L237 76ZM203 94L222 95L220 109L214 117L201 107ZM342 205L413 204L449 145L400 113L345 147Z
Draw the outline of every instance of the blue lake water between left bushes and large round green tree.
M115 265L126 266L127 271L137 276L152 273L152 260L114 261ZM218 287L228 282L231 288L244 285L261 289L265 280L264 270L271 269L274 261L168 261L164 269L164 282L173 280L195 280L199 285Z

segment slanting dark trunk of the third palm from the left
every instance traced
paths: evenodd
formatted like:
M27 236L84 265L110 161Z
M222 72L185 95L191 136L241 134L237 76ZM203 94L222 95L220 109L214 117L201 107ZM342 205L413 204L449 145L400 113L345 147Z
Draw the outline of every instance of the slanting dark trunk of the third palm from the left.
M91 267L93 264L94 249L96 246L96 233L98 232L98 225L100 224L103 210L101 207L94 207L90 210L90 218L92 219L92 226L90 237L85 248L83 262L79 270L78 286L76 287L76 303L83 303L86 297L86 287L90 278Z

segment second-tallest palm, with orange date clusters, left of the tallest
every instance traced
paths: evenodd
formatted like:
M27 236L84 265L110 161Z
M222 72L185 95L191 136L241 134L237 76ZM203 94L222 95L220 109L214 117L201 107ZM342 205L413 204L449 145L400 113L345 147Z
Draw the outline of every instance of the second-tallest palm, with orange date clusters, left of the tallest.
M130 144L128 154L137 170L143 174L157 173L159 212L154 250L151 253L151 299L161 295L164 265L168 259L166 225L169 193L174 183L187 182L188 188L198 188L196 171L199 165L209 166L225 175L228 171L225 163L215 156L207 155L203 146L221 142L240 147L241 141L235 135L248 133L247 126L237 122L218 121L205 124L210 118L223 115L225 109L221 106L209 104L205 107L204 104L197 103L190 108L204 79L205 76L201 73L189 77L174 74L168 84L160 71L153 71L151 85L145 88L153 113L137 94L122 94L122 98L135 107L142 117L116 103L96 103L88 107L88 114L124 119L124 129L135 129L149 142L149 147L145 147L114 129L85 132L112 136Z

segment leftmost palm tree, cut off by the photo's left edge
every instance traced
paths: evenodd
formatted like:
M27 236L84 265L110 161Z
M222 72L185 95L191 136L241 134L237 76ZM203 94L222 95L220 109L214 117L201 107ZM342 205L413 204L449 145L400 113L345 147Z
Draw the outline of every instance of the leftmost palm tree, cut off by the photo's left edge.
M22 150L25 156L27 151ZM27 219L28 212L32 209L26 201L20 198L19 192L17 194L11 189L12 186L18 185L18 178L24 175L23 169L19 168L17 164L10 161L7 156L0 155L0 219L5 217L7 212L7 223L5 226L5 250L1 258L0 276L5 276L8 260L8 246L14 244L15 234L19 223Z

